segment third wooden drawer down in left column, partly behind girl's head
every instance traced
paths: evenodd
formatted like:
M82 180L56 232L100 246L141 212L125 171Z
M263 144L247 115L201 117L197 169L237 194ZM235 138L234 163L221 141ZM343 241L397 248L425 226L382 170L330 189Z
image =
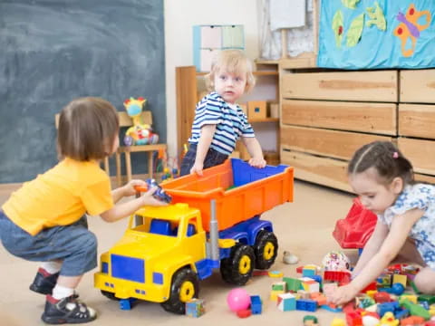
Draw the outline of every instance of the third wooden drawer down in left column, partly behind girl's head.
M291 149L331 158L350 159L356 149L374 140L391 141L391 137L338 130L281 126L282 149Z

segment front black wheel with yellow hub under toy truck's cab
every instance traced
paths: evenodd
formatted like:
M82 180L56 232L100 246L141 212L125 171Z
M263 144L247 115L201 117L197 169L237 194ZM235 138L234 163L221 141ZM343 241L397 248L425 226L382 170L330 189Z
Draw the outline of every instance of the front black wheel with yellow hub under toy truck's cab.
M177 314L186 313L186 302L198 298L199 281L198 276L190 268L183 268L172 276L169 299L160 303L167 312Z

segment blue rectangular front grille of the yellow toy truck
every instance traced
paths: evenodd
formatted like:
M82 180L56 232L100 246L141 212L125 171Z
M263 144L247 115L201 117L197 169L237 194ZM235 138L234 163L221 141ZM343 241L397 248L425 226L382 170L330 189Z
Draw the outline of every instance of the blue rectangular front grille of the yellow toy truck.
M145 261L120 254L111 254L111 276L145 283Z

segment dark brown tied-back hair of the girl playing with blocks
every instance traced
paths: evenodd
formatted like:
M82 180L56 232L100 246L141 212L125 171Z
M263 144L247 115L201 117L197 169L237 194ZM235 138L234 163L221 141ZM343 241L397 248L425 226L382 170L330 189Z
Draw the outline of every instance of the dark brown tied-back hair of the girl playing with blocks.
M362 146L354 154L347 168L348 174L362 173L375 168L382 184L401 177L404 185L414 182L411 162L390 141L374 141Z

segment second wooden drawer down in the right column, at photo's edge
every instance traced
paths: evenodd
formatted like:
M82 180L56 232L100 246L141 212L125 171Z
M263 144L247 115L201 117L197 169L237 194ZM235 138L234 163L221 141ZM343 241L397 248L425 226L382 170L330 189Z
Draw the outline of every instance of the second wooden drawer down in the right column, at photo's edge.
M399 104L399 135L435 139L435 105Z

